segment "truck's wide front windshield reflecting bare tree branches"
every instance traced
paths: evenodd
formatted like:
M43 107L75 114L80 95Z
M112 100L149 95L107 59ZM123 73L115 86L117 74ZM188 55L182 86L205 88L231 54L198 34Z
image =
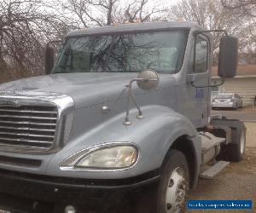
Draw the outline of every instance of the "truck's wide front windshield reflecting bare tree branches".
M70 37L53 73L140 72L176 73L183 64L185 31Z

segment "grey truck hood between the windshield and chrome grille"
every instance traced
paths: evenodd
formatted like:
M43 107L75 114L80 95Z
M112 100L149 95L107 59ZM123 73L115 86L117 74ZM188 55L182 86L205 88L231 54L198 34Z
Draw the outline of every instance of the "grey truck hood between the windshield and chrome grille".
M78 109L117 99L125 85L136 77L137 73L120 72L58 73L3 83L0 91L32 90L70 95Z

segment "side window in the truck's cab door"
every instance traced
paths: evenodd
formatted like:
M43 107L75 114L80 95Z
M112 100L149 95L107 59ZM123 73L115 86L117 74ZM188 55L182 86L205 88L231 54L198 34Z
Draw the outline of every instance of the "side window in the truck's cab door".
M195 38L195 45L193 43L193 48L189 58L190 72L197 72L197 73L207 72L208 49L209 47L208 47L207 40L197 36ZM195 59L194 59L194 54L195 54ZM194 66L194 60L195 60L195 66Z

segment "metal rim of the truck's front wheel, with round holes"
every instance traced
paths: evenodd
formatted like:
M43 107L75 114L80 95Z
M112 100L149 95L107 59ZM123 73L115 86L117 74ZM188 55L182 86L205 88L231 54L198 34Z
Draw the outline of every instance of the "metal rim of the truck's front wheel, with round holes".
M188 183L183 169L177 167L172 171L166 187L166 212L181 212L186 201Z

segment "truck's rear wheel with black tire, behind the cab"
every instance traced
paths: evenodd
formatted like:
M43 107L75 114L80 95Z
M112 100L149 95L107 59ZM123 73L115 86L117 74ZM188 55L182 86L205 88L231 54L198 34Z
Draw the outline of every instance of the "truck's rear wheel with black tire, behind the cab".
M230 143L227 145L227 156L230 161L241 161L245 153L246 147L246 130L242 129L239 134L237 143Z

